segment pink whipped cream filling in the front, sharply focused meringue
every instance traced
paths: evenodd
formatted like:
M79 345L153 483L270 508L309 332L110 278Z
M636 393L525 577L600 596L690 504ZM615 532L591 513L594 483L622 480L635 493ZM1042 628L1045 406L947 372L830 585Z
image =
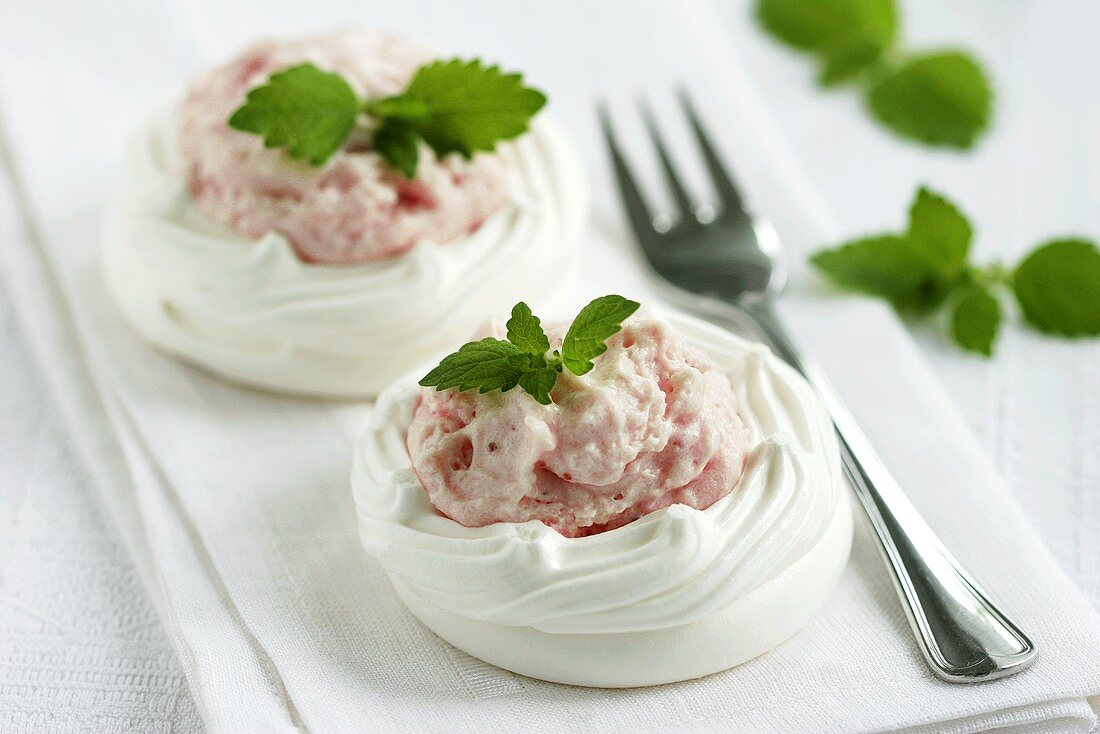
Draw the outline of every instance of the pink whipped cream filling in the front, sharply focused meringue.
M550 329L551 349L564 337ZM536 519L580 537L672 504L705 510L741 474L748 431L729 379L663 321L630 319L551 396L426 390L408 449L431 503L468 527Z

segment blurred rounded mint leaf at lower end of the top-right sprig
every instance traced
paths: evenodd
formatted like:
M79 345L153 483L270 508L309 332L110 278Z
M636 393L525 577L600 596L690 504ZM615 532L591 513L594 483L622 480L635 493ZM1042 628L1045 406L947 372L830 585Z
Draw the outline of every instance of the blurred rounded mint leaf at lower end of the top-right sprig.
M968 149L989 124L993 92L971 56L942 51L915 56L879 78L867 101L875 117L903 138Z

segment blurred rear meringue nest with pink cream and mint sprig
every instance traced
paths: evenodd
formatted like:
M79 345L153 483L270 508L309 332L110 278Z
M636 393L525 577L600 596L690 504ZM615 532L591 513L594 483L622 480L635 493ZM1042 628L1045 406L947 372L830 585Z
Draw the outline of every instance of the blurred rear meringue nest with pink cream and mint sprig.
M373 396L570 280L586 179L544 102L385 32L260 42L134 135L105 226L111 295L221 376Z

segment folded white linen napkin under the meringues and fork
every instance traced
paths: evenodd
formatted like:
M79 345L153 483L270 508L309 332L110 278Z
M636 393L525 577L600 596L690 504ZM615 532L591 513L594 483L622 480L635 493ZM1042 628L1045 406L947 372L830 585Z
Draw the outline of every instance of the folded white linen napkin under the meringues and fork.
M196 69L263 32L356 20L521 68L592 162L590 259L573 300L648 294L619 224L591 105L686 81L798 263L836 228L777 140L747 70L695 2L25 3L0 28L0 112L29 232L2 242L34 349L153 594L211 731L1087 732L1100 617L1058 569L881 305L785 303L887 463L948 547L1036 639L1028 671L952 686L920 659L872 544L824 612L772 653L703 680L607 691L482 664L405 612L360 549L348 486L366 404L239 388L156 352L109 303L99 221L129 129ZM686 150L686 145L678 150ZM644 174L652 178L653 167ZM795 269L796 274L801 269ZM462 335L457 335L462 338Z

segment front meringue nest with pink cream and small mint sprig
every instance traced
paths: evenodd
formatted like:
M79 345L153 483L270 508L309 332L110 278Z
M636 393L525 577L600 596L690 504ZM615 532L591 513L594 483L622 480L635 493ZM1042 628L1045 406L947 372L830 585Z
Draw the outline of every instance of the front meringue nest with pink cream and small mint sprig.
M527 676L724 670L801 628L847 562L813 390L760 344L631 303L597 299L564 336L520 304L387 387L355 454L360 536L406 606Z

